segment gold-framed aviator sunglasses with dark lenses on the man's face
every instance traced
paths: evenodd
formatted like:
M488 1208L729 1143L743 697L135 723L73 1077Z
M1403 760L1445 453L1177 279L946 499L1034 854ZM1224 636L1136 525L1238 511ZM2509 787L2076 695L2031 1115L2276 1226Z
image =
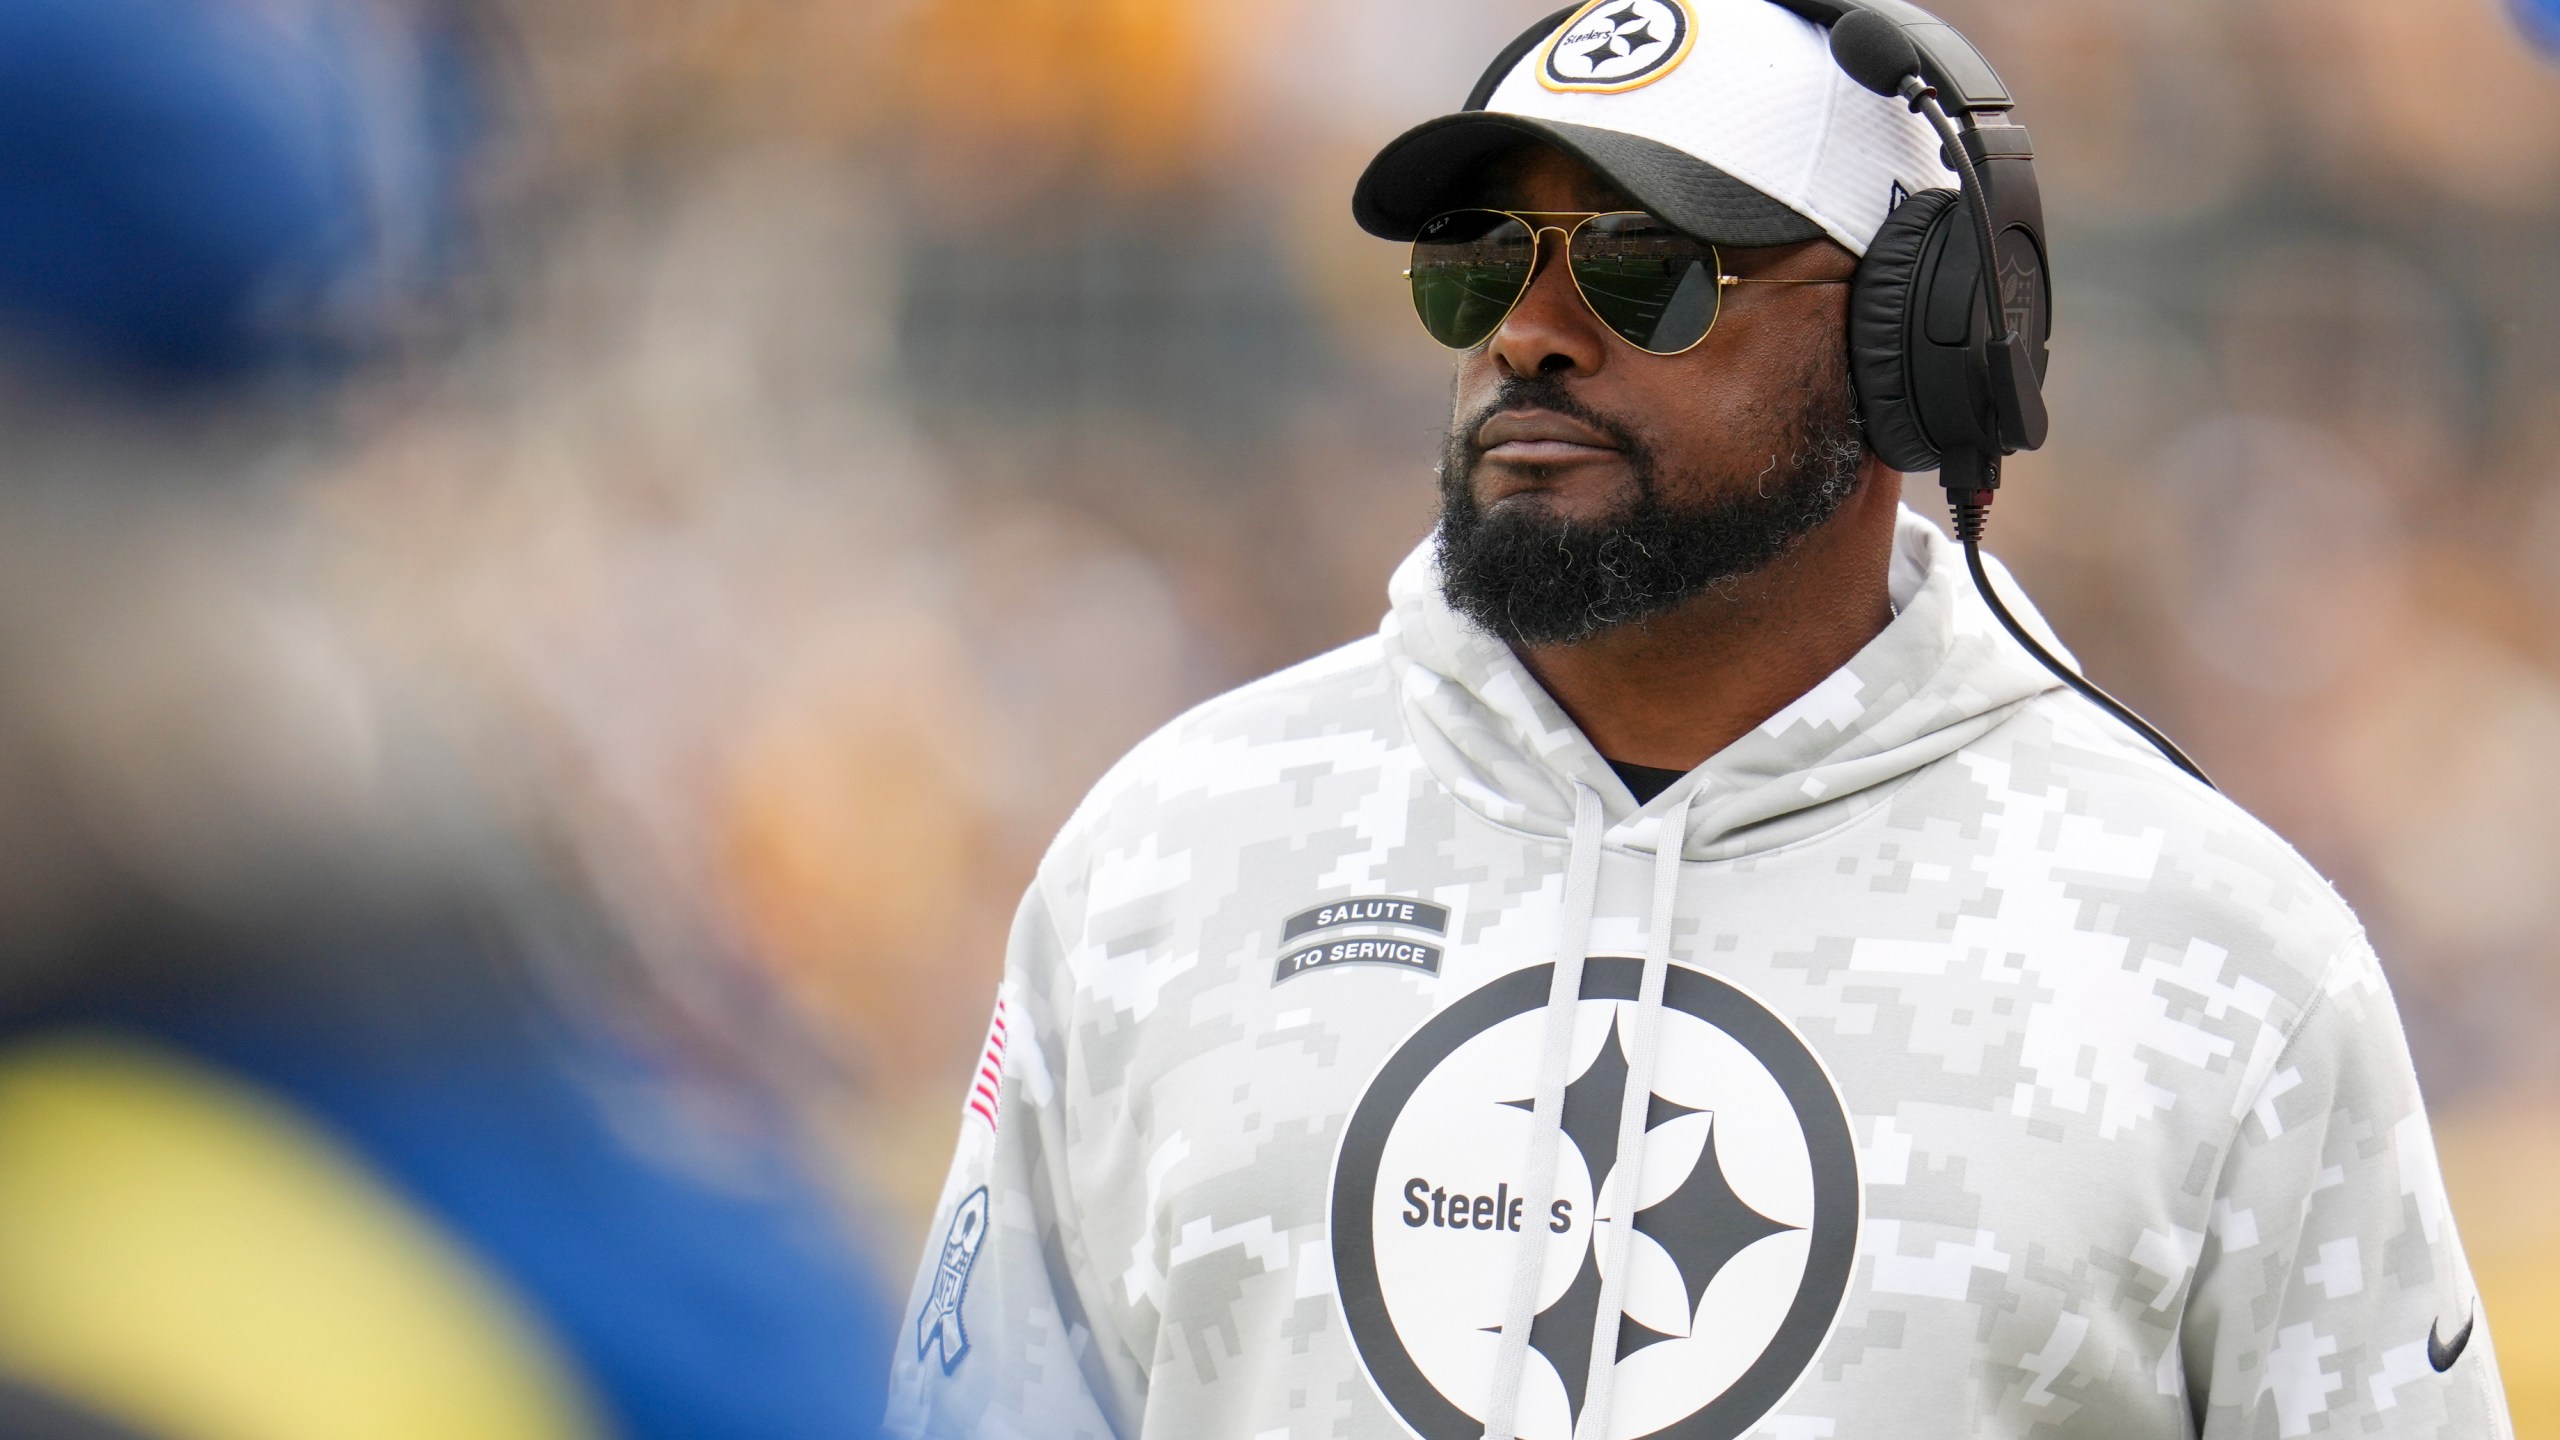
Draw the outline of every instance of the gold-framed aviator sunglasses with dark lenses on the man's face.
M1549 220L1549 223L1541 223ZM1551 220L1572 220L1556 225ZM1413 310L1431 338L1472 351L1503 328L1539 274L1539 241L1564 236L1564 269L1592 315L1656 356L1697 348L1715 328L1728 284L1848 284L1725 274L1715 246L1644 210L1449 210L1413 238Z

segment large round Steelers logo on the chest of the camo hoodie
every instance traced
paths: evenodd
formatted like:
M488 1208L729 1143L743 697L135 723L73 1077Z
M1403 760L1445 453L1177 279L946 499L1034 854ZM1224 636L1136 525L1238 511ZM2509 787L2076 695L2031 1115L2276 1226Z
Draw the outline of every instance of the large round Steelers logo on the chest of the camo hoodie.
M1828 1071L1777 1012L1672 966L1641 1150L1620 1156L1644 961L1595 956L1574 1007L1554 1194L1531 1199L1554 966L1426 1020L1344 1125L1334 1294L1380 1399L1421 1440L1477 1440L1523 1240L1541 1248L1518 1391L1523 1440L1736 1440L1784 1402L1856 1268L1859 1158ZM1641 1161L1633 1161L1641 1156ZM1633 1215L1610 1176L1636 1163ZM1618 1266L1605 1422L1585 1414Z

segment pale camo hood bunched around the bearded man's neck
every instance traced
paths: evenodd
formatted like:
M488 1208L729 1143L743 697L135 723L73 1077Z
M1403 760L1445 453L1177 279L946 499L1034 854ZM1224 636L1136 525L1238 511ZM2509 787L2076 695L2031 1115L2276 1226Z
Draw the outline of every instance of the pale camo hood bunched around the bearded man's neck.
M1426 538L1395 569L1380 628L1405 723L1459 805L1533 835L1572 833L1580 784L1600 794L1608 846L1654 851L1661 820L1682 810L1684 858L1784 846L1841 822L1838 805L1882 797L2028 700L2061 689L1974 594L1964 548L1905 507L1889 579L1900 618L1846 666L1638 807L1510 646L1449 610L1434 551ZM2007 571L1987 564L2028 630L2066 653Z

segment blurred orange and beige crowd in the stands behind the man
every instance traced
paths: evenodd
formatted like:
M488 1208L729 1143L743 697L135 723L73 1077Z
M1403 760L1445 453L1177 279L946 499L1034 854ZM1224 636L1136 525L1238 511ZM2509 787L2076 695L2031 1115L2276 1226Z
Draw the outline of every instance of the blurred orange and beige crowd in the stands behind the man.
M0 495L15 664L61 676L20 728L95 846L212 889L264 879L207 774L264 776L261 835L474 776L904 1258L1047 835L1370 630L1423 536L1446 359L1349 184L1546 5L381 3L461 15L499 95L474 261L248 425L13 372L67 477ZM1938 10L2056 243L1992 548L2365 917L2560 1437L2560 61L2491 0ZM20 925L74 904L5 869Z

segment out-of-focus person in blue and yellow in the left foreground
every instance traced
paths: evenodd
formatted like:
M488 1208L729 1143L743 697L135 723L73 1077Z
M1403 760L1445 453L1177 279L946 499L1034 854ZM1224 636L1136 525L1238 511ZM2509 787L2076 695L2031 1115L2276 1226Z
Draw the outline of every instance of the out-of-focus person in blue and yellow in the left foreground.
M878 1414L883 1307L783 1107L294 574L274 477L440 282L448 18L0 0L13 1440Z

